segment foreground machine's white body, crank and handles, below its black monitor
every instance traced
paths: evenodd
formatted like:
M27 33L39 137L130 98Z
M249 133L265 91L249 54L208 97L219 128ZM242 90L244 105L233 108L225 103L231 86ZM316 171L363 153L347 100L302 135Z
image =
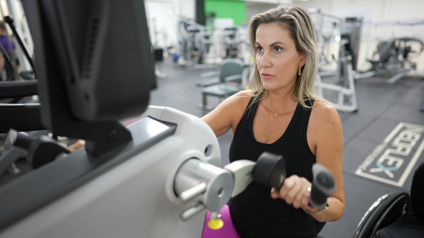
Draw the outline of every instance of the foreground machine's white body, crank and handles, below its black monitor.
M26 151L34 170L0 186L7 194L0 197L0 237L200 237L206 209L210 227L219 229L220 208L252 181L284 182L282 156L264 153L220 168L217 139L201 119L158 106L145 115L127 127L130 144L98 157L9 132L7 147L16 146L0 164ZM335 184L322 165L312 169L311 204L321 207Z

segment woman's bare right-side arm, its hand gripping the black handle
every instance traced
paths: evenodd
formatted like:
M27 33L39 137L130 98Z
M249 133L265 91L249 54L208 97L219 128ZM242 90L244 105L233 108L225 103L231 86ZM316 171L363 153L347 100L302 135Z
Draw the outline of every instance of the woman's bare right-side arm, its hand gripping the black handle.
M340 117L335 108L326 103L315 103L307 128L307 141L317 163L333 173L336 189L327 199L329 209L311 214L316 220L336 221L341 218L345 207L342 176L343 132ZM285 179L279 191L271 190L272 198L281 198L295 208L303 208L314 213L317 208L309 206L311 182L303 177L292 175Z

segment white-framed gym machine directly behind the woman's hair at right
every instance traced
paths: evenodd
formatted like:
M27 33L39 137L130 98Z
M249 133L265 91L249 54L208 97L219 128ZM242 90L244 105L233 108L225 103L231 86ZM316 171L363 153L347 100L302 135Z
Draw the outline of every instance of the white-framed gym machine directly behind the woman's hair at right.
M333 102L338 110L356 112L358 105L353 77L362 20L343 20L320 9L308 11L315 17L320 46L317 91L321 97Z

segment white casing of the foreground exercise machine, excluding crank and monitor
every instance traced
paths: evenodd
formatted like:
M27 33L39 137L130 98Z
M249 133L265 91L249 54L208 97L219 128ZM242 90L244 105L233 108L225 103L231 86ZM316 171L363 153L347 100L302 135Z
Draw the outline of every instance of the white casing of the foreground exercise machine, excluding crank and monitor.
M129 125L133 141L116 156L129 159L0 231L0 238L200 238L207 210L182 219L199 199L182 201L174 180L191 158L220 166L215 134L200 118L173 108L149 106L145 116L177 124L175 133L139 153L145 118ZM153 122L147 131L162 127Z

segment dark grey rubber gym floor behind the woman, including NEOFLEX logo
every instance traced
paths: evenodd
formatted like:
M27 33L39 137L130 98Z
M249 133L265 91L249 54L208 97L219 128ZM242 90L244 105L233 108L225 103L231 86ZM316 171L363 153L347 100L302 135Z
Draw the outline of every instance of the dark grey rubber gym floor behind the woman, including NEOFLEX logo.
M157 79L150 105L170 106L203 116L199 74L213 69L187 69L165 59L158 62L165 77ZM403 78L390 84L384 77L355 82L358 110L339 112L343 125L343 179L346 209L328 222L322 238L353 237L368 208L380 196L410 190L415 168L424 162L424 79ZM217 105L217 99L209 99ZM232 132L218 138L222 165L227 164Z

